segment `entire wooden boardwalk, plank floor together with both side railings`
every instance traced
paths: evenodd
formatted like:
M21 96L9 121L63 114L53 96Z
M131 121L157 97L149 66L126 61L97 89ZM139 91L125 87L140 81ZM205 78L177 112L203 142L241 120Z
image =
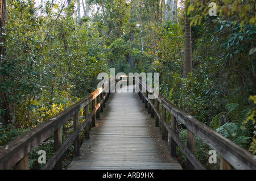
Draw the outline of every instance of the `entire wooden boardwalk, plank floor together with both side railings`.
M112 85L112 81L115 80L109 79L105 86ZM44 164L42 170L50 170L53 167L63 169L61 157L72 143L73 154L79 155L80 151L80 157L75 157L68 169L181 169L176 160L177 146L187 158L187 169L205 169L193 153L195 136L220 155L220 169L232 169L232 167L234 169L256 169L255 155L210 129L172 104L163 95L159 94L155 101L148 99L147 92L155 90L147 87L142 79L136 77L135 85L138 85L137 88L139 88L141 98L145 100L144 103L137 93L115 93L110 96L104 108L105 99L109 98L109 94L99 88L1 148L0 169L9 170L14 166L19 170L29 169L30 162L35 160L30 159L28 154L49 139L52 134L54 134L55 153ZM133 86L130 88L133 89ZM144 107L151 108L151 111L154 110L155 116L162 123L161 132L159 127L155 127L158 121L152 119L148 114L151 111ZM79 123L80 111L83 108L85 120ZM80 148L79 134L83 129L88 128L90 120L94 120L95 113L102 108L104 108L104 113L101 113L101 119L97 119L97 126L90 131L90 138L86 139ZM171 125L167 123L166 113L171 116ZM62 127L71 119L74 132L63 142ZM175 126L177 121L187 129L187 144L184 144L177 134ZM162 135L165 138L167 133L171 136L172 147L161 139ZM86 137L88 137L87 134ZM208 158L203 162L207 161Z

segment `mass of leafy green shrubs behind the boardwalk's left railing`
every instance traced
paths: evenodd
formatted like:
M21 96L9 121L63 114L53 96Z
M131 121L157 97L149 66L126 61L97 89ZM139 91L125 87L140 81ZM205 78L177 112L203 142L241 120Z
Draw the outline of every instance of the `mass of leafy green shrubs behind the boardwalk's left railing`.
M6 56L0 69L8 108L0 112L9 116L5 135L22 134L71 106L96 89L97 74L108 68L101 54L106 47L96 46L102 38L89 23L77 23L72 6L48 1L46 14L39 15L32 1L7 5Z

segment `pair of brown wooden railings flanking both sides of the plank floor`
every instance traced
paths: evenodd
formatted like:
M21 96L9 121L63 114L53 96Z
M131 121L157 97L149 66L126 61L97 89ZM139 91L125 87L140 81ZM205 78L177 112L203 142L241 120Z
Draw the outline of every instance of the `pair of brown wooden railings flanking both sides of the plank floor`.
M73 104L73 106L60 112L57 116L45 121L0 149L0 169L11 169L14 166L16 169L28 169L28 153L47 140L52 134L54 134L55 139L55 154L53 154L42 169L52 169L53 167L61 169L61 156L72 143L74 154L79 155L79 133L85 129L85 138L89 138L90 120L92 120L92 127L95 127L96 117L99 117L100 111L103 111L105 102L110 95L110 89L112 88L110 85L115 86L110 81L115 80L112 78L105 83L104 86L108 90L103 88L97 89L92 94ZM235 169L256 169L255 155L213 131L207 125L204 125L199 120L176 107L162 95L153 93L157 98L148 99L148 95L152 94L151 92L155 92L155 90L149 89L138 77L135 78L134 84L137 85L135 87L137 87L139 96L142 102L145 103L148 113L151 113L151 117L155 116L155 125L159 126L159 122L161 123L162 138L166 139L167 134L171 135L171 156L176 156L176 147L179 146L180 150L187 157L187 169L205 169L194 155L195 135L209 145L210 148L216 150L221 156L221 169L230 169L231 166ZM90 112L89 104L92 105ZM162 105L161 113L159 111L160 105ZM79 112L83 108L85 112L84 121L79 125ZM171 124L166 123L166 111L171 113ZM71 120L72 117L74 132L62 143L61 126L67 123L68 120ZM177 134L177 121L180 121L180 123L187 127L187 145L181 141Z

